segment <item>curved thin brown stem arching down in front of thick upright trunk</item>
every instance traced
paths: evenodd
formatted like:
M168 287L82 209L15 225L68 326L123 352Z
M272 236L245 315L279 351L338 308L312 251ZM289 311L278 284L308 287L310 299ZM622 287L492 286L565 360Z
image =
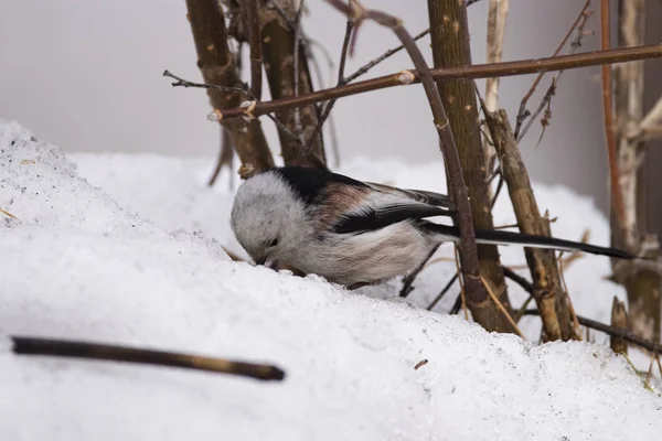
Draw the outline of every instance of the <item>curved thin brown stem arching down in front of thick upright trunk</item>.
M480 275L478 251L476 248L476 235L473 233L473 219L471 216L471 208L469 207L467 185L465 184L465 178L462 176L458 150L446 115L446 109L444 108L441 97L439 96L439 90L437 90L423 54L412 39L412 35L409 35L407 30L403 26L399 19L381 11L366 10L359 4L357 1L352 1L352 7L343 3L341 0L327 0L327 2L350 15L354 21L355 26L359 26L363 20L370 19L384 26L391 28L403 45L405 45L414 65L418 69L420 82L430 104L435 127L439 135L441 150L448 169L450 191L458 211L457 217L461 236L462 271L465 276L465 286L467 288L467 297L473 304L488 303L488 293L479 279Z

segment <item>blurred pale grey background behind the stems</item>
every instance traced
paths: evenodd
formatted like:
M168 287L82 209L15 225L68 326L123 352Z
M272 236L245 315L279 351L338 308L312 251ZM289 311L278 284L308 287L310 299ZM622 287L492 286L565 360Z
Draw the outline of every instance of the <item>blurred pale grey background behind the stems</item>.
M427 28L424 0L366 0L401 17L415 34ZM305 32L325 80L335 73L323 50L337 63L345 19L319 0L309 0ZM504 61L549 56L575 21L584 0L511 0ZM650 43L662 41L662 2L652 0L648 13ZM485 60L487 1L469 8L472 56ZM594 1L596 12L599 4ZM164 69L200 80L184 0L2 0L0 2L0 117L15 119L39 138L68 151L157 152L215 157L220 129L206 120L211 110L202 89L172 88ZM597 31L598 13L587 30ZM426 50L429 39L421 40ZM392 32L367 23L356 52L348 63L352 73L385 50L397 46ZM599 34L586 35L581 52L598 49ZM429 52L429 51L426 51ZM428 56L431 62L431 56ZM378 76L412 63L402 53L371 71ZM647 63L647 105L662 93L660 61ZM599 67L567 71L552 101L552 123L541 135L535 123L521 143L533 180L564 184L590 195L608 211L607 157L602 122ZM246 76L247 77L247 76ZM503 78L500 107L511 119L533 76ZM549 85L544 79L530 107L537 106ZM265 83L266 85L266 83ZM479 85L484 90L484 85ZM655 90L655 88L658 88ZM264 99L268 98L265 87ZM423 89L391 88L341 99L333 111L340 154L398 157L406 162L439 160L437 135ZM264 120L269 143L278 141L273 123ZM648 164L651 206L662 206L653 190L662 178L655 149ZM650 222L658 226L651 211Z

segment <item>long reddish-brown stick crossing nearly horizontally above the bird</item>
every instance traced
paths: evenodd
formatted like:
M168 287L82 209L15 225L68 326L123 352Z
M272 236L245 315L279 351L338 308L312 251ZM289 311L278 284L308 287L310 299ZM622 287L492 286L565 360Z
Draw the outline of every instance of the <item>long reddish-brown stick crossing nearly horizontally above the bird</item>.
M613 49L610 51L586 52L583 54L563 55L547 58L431 69L430 73L436 79L473 79L495 76L506 77L660 57L662 57L662 45L654 44L638 47ZM385 75L364 82L352 83L341 87L333 87L310 94L302 94L297 98L285 98L260 103L255 107L253 115L258 117L265 114L307 106L329 99L342 98L366 92L418 83L420 80L418 73L416 71L412 71L410 73L413 78L406 82L403 82L402 73L398 72L396 74ZM238 118L245 115L245 109L241 108L220 109L222 109L221 111L223 118L227 119Z

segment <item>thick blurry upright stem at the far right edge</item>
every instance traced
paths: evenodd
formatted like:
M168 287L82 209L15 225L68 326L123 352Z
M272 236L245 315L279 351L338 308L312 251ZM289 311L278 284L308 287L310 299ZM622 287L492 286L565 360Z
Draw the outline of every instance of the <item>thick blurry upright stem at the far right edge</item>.
M619 1L620 46L636 46L644 41L644 0ZM622 195L622 218L612 211L612 244L649 258L660 255L656 237L648 235L648 183L642 169L648 152L642 141L632 138L643 120L644 75L643 63L628 63L615 69L616 90L616 159L618 181L611 182L611 192ZM616 208L616 207L615 207ZM618 223L620 222L620 225ZM662 324L662 267L643 262L611 261L613 280L628 291L628 321L630 331L645 338L659 340Z

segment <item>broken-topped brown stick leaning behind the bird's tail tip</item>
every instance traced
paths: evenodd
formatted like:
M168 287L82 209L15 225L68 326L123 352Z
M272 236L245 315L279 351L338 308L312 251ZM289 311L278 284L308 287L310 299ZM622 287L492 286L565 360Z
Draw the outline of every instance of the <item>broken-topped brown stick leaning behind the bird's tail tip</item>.
M505 110L490 112L481 101L502 176L522 233L546 236L548 230L535 202L533 189ZM567 293L563 290L558 262L551 249L524 248L533 280L533 298L541 311L546 341L574 336Z

